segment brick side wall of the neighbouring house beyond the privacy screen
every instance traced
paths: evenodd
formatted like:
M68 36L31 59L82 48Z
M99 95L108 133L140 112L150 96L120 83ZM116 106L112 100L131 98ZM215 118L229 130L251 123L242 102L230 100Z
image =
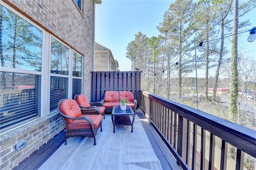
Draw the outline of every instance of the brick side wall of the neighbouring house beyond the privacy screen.
M108 65L108 52L95 52L95 71L110 71L108 68L111 65Z

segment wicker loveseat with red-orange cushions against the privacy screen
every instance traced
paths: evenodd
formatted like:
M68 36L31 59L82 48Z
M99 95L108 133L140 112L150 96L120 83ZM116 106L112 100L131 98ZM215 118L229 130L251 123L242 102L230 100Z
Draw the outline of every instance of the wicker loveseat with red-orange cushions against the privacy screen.
M105 91L104 99L100 102L106 108L105 112L112 112L114 105L120 105L120 100L124 98L129 101L126 105L130 105L135 112L137 109L137 100L134 99L134 95L130 91Z

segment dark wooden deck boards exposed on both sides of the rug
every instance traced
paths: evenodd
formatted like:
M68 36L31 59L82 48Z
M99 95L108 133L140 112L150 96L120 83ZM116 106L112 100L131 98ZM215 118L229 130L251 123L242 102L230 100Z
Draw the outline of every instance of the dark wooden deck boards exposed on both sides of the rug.
M146 119L142 112L136 111L139 119ZM161 162L163 170L178 170L180 166L174 160L172 154L159 137L155 129L149 122L142 121L142 126L150 140L152 148ZM38 169L65 141L64 131L56 135L52 140L45 144L40 150L22 162L15 170L36 170Z

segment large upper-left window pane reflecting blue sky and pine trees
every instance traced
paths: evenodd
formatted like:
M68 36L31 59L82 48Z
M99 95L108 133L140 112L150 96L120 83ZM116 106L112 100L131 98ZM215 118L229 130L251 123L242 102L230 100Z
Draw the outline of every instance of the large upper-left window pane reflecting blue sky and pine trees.
M1 66L41 71L42 31L1 5Z

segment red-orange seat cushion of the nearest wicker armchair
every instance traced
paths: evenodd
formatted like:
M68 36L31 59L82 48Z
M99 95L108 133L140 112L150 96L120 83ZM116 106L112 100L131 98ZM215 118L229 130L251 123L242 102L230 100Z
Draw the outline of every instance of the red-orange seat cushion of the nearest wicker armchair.
M90 117L93 121L94 128L97 128L102 120L101 115L81 115L80 117ZM91 124L89 122L84 121L84 119L76 119L72 123L68 124L68 129L91 128Z

